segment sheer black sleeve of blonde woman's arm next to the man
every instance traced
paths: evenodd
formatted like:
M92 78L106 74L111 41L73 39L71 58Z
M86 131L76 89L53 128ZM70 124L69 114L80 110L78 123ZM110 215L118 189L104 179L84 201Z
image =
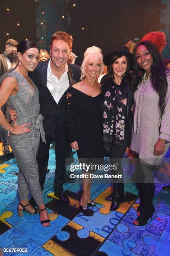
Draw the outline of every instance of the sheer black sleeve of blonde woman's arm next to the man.
M67 102L67 114L66 114L66 124L67 131L69 133L69 142L76 141L76 131L75 131L75 109L74 109L74 96L69 97Z

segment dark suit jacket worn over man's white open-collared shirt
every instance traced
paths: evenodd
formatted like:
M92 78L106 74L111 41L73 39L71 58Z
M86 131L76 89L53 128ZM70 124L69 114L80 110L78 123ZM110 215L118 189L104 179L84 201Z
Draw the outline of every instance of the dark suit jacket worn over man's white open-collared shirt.
M40 62L34 72L29 72L28 76L38 87L40 113L44 117L43 127L46 135L53 134L58 125L61 135L66 136L66 93L69 88L64 92L57 104L47 87L48 62L49 60ZM79 81L81 72L78 65L68 64L68 68L69 84L71 86Z

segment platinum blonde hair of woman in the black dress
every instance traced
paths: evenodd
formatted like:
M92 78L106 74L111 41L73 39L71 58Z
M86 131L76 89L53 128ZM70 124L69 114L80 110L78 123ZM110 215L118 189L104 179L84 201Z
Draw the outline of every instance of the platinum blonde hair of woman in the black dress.
M83 62L81 64L81 68L80 68L81 69L81 78L80 78L81 81L86 77L86 71L85 71L86 64L93 63L94 61L97 61L98 59L101 60L100 74L102 74L103 69L104 69L104 63L103 63L103 54L102 54L101 49L96 46L92 46L92 47L89 47L86 49L86 51L84 53L84 59L83 59Z

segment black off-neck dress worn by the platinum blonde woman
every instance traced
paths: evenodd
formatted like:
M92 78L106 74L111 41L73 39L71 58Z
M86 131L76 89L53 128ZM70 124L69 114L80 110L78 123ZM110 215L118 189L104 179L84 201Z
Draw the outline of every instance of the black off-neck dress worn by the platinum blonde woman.
M79 158L100 158L104 157L102 146L102 100L101 93L96 97L86 95L73 87L69 93L67 104L67 128L69 141L77 141Z

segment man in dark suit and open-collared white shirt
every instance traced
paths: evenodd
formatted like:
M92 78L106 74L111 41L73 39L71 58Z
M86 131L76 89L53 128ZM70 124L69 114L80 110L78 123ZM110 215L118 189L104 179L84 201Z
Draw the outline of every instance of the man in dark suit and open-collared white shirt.
M39 90L40 113L43 116L43 127L46 133L46 144L40 142L37 154L39 167L39 181L43 190L48 166L50 142L55 134L56 144L56 172L54 180L54 195L60 201L69 205L69 198L63 192L65 181L65 159L69 146L66 131L66 92L69 87L79 81L80 67L67 64L73 39L66 32L58 31L51 37L51 59L38 64L29 77L35 82ZM34 205L34 200L30 203Z

